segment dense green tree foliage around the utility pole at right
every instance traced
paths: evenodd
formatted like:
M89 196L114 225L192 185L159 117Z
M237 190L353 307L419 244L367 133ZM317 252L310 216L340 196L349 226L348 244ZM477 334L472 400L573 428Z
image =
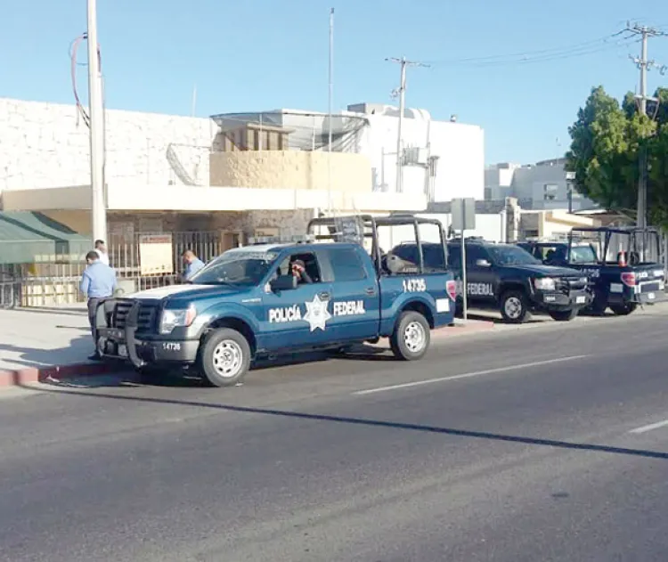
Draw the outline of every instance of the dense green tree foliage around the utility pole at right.
M638 198L640 149L647 151L648 211L654 224L668 225L668 88L659 88L659 104L640 115L629 93L618 102L602 86L593 88L568 130L571 148L566 169L574 187L599 205L634 212Z

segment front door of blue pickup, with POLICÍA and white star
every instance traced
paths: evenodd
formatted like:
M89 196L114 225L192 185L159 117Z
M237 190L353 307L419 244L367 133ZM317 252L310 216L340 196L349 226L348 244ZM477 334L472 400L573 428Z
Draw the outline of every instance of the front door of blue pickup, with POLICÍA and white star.
M322 266L314 252L299 252L281 260L277 274L290 273L293 260L302 260L312 282L297 289L265 291L265 314L260 322L270 351L322 346L331 339L331 282L323 281Z

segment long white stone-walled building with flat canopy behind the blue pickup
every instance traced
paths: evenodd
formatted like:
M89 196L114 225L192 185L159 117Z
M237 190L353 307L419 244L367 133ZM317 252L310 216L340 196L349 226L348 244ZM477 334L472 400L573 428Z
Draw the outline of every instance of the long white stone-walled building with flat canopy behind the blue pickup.
M396 155L387 152L395 151L398 118L387 108L363 110L332 118L331 154L322 113L186 118L107 110L108 245L119 275L138 288L164 284L178 274L184 248L208 259L251 236L304 233L310 218L330 209L420 212L434 198L482 197L479 127L436 124L407 110L405 189L395 192ZM37 212L37 223L57 221L88 236L89 176L88 129L76 106L0 99L4 211ZM12 270L29 277L29 302L76 300L81 264L39 259Z

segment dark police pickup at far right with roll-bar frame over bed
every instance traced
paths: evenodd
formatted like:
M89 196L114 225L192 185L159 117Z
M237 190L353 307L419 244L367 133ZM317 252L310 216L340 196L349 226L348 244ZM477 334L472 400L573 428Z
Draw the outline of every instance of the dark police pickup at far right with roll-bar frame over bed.
M638 305L665 300L664 266L656 229L574 228L566 239L528 240L517 245L547 265L586 273L594 299L590 309L631 314Z

